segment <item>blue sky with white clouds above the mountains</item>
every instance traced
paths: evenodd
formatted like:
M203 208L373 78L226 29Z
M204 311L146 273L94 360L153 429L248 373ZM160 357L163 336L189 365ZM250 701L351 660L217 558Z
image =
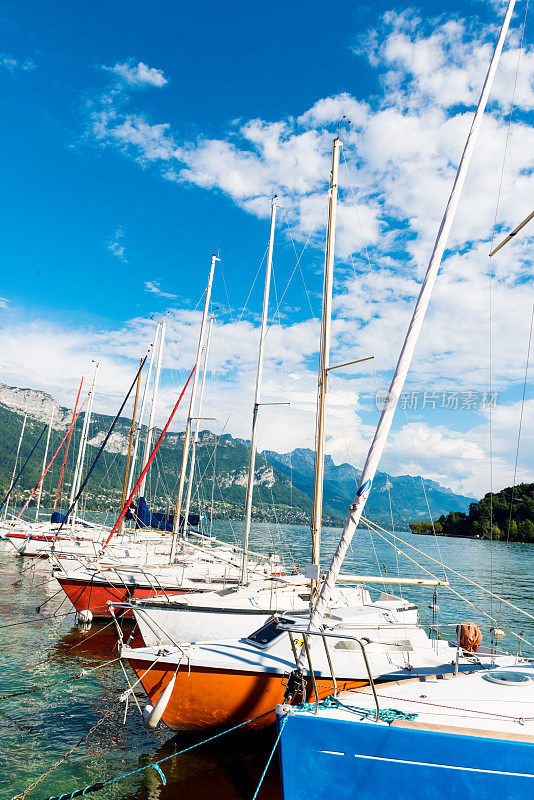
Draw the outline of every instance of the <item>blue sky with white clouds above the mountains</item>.
M297 272L266 365L266 392L290 398L292 418L282 435L266 415L262 444L310 446L324 193L332 136L346 114L353 124L343 132L333 360L372 352L375 366L333 381L329 447L336 461L359 465L377 415L373 393L387 384L402 341L502 13L500 3L481 2L4 7L0 380L68 404L96 355L100 408L111 410L149 341L151 316L169 310L164 418L192 359L194 309L220 248L209 402L221 428L247 435L261 276L249 292L277 191L285 206L277 289L293 273L293 241L300 252L309 240L300 266L311 310ZM462 405L466 392L480 399L488 388L491 224L497 208L504 234L532 210L528 26L497 205L523 14L519 3L416 354L412 429L400 415L389 455L394 472L413 473L420 462L425 475L475 494L488 482L487 411ZM503 485L532 303L529 247L525 236L495 266L495 469ZM458 409L441 407L443 392L459 393Z

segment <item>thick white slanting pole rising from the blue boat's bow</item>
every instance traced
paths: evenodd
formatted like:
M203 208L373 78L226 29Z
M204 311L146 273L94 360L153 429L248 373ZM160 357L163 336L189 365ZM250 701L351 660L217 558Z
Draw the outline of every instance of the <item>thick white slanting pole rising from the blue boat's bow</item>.
M499 58L502 52L504 40L506 38L506 33L508 31L508 26L510 24L510 19L514 9L514 4L515 0L509 0L508 8L506 10L504 21L499 34L499 39L495 47L493 58L491 59L491 63L488 69L488 74L486 76L486 80L482 88L482 93L480 96L478 107L473 122L471 124L471 130L469 131L469 135L467 137L464 152L462 154L460 165L458 167L458 172L456 173L454 185L452 187L447 207L445 209L445 213L443 215L443 219L439 227L436 243L434 245L434 250L430 258L430 263L428 265L427 273L425 275L423 285L421 286L421 291L417 299L417 303L415 305L413 316L410 322L410 327L408 328L408 333L406 334L406 339L404 341L404 345L402 347L399 360L397 362L397 368L395 370L395 374L393 375L393 379L391 381L388 394L388 401L380 416L380 421L378 423L378 427L376 429L373 442L371 444L369 453L367 455L367 460L365 462L365 466L362 471L362 475L358 485L358 490L356 492L356 497L354 499L354 503L350 507L349 516L345 523L341 540L337 546L336 552L332 559L332 563L330 565L330 569L328 570L328 575L321 587L317 603L315 604L315 607L310 617L309 624L312 630L317 629L317 627L321 623L321 620L324 617L324 614L328 607L328 603L332 596L332 591L335 586L336 578L339 575L341 565L343 564L343 559L345 558L347 549L350 546L352 537L354 536L356 528L358 527L358 524L360 522L360 518L362 516L366 500L371 490L371 484L373 478L375 476L378 464L380 462L380 458L382 457L382 453L386 445L386 439L389 430L391 428L391 423L393 422L393 415L397 407L398 399L404 387L406 375L410 368L415 346L417 344L417 339L421 332L421 327L423 325L425 313L428 308L432 290L434 288L434 284L436 282L436 278L438 275L438 270L441 263L441 259L443 257L443 252L445 250L445 246L447 244L447 239L449 237L454 216L458 208L460 195L462 193L462 189L465 183L465 178L467 175L467 170L469 168L469 162L471 160L471 156L473 155L473 150L475 147L477 136L480 130L480 126L482 124L484 110L486 108L488 96L491 91L491 86L493 84L493 79L495 77L495 72L497 70L497 65L499 63ZM299 658L299 667L302 667L304 663L305 663L305 654L301 652Z

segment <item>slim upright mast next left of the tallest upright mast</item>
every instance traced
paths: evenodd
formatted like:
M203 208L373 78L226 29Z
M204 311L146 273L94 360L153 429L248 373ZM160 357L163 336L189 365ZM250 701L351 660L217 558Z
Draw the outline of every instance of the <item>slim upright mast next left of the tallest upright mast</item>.
M252 409L252 432L250 435L250 455L248 462L247 492L245 495L245 528L243 532L243 555L241 560L240 583L248 581L248 545L250 539L250 521L252 518L252 494L254 492L254 468L256 465L256 436L258 410L261 397L261 383L263 378L263 358L265 353L265 335L267 333L267 320L269 316L269 292L271 288L271 270L273 264L274 232L276 228L275 200L271 200L271 228L269 231L269 247L267 249L267 264L265 267L265 288L263 290L263 310L261 315L260 344L258 350L258 366L256 369L256 391L254 393L254 407Z

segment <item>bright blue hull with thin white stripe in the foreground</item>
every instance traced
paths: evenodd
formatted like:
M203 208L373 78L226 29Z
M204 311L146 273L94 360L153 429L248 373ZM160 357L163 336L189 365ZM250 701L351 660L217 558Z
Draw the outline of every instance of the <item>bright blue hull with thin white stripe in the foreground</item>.
M278 725L282 717L278 717ZM296 713L280 738L284 800L443 800L534 790L534 743Z

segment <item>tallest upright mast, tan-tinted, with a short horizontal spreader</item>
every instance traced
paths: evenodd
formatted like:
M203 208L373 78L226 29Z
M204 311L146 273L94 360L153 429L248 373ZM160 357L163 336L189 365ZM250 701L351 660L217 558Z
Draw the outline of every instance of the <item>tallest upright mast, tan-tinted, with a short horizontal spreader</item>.
M317 422L315 442L315 472L313 479L312 509L312 602L318 591L319 564L321 556L321 526L323 514L324 487L324 443L326 424L326 398L328 392L328 367L330 364L330 338L332 328L332 287L334 282L334 251L336 242L336 212L339 174L339 153L341 140L334 139L332 148L332 171L330 173L330 190L328 204L328 227L326 234L326 253L324 265L323 316L321 321L321 359L317 385Z

